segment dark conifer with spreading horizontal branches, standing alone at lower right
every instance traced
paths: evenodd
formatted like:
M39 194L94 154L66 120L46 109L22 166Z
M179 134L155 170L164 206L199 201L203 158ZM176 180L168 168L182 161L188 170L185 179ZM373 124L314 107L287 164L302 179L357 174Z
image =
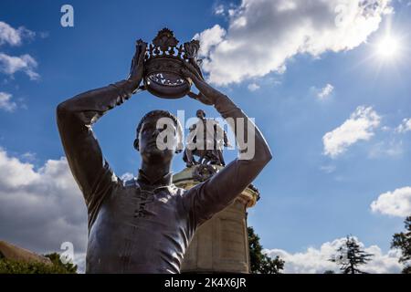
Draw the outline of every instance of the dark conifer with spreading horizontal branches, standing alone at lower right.
M348 235L345 242L337 249L337 254L330 261L340 266L342 274L366 274L358 266L371 261L372 256L372 254L364 252L352 235Z

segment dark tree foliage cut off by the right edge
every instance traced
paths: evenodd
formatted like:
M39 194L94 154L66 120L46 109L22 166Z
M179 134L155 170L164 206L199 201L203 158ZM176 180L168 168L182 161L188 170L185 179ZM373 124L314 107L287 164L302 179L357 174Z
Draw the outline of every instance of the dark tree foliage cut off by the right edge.
M411 265L409 264L409 261L411 261L411 216L406 217L404 224L406 224L406 231L393 235L391 247L401 250L402 255L399 262L406 264L403 273L411 274Z

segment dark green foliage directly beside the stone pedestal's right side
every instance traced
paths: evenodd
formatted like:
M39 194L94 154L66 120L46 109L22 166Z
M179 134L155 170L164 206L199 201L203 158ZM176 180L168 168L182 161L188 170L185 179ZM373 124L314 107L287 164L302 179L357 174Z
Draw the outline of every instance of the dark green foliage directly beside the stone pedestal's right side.
M259 244L259 236L254 233L252 227L248 227L249 261L253 274L280 274L284 268L284 261L276 256L274 259L263 254L262 245Z

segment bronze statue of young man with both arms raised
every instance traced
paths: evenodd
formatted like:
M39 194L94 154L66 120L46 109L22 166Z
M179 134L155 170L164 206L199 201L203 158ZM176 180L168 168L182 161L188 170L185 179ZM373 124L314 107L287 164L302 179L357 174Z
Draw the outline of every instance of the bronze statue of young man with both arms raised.
M122 182L103 158L91 125L129 99L142 82L145 43L138 43L129 78L94 89L58 105L58 130L68 164L84 195L89 214L87 273L179 273L195 229L223 210L251 183L271 159L269 146L256 128L255 155L229 163L204 183L185 191L172 183L171 162L182 141L181 126L163 110L146 114L134 146L142 155L138 178ZM225 118L244 118L243 111L210 87L193 67L182 69L200 94ZM159 150L159 118L174 120L173 147ZM247 127L247 125L245 126Z

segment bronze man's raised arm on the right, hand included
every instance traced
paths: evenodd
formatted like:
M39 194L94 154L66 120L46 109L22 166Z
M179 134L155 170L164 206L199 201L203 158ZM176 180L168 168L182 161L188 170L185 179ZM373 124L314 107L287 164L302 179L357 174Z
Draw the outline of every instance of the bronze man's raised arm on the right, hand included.
M246 189L272 156L269 145L257 126L242 110L237 108L227 95L207 84L191 64L185 64L182 74L190 78L200 91L199 94L190 92L189 96L205 105L215 106L235 132L239 148L239 155L235 161L230 162L209 180L197 184L186 195L188 209L192 212L197 224L202 224L213 214L227 207L239 193ZM241 135L239 131L242 131Z

